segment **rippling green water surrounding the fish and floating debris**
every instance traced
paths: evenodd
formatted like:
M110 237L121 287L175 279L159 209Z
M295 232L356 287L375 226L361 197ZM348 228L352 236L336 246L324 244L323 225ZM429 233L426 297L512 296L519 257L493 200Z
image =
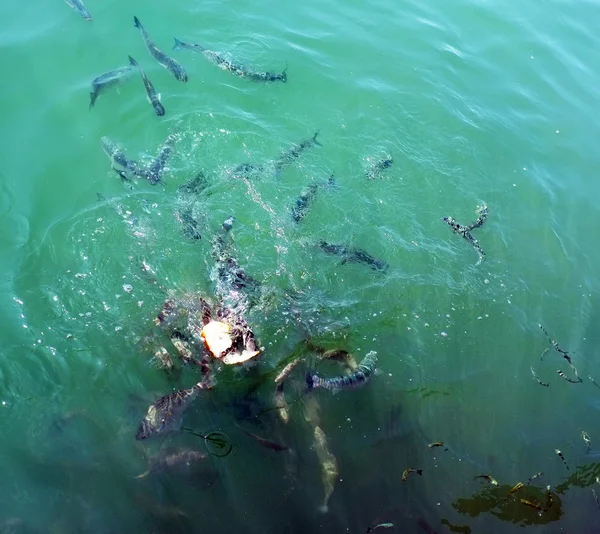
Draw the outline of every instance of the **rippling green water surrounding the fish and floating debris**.
M587 379L600 383L598 3L86 7L91 23L58 0L0 5L0 531L360 533L393 522L387 532L441 533L447 519L503 533L525 516L543 523L536 532L600 529L590 487L569 486L552 521L518 500L501 518L453 506L486 488L476 475L513 486L543 471L535 483L556 487L598 459L600 389ZM187 84L151 58L134 15ZM288 83L170 52L174 36L257 70L287 64ZM162 94L163 118L137 74L88 110L90 81L128 55ZM279 176L230 177L317 130L323 146ZM124 185L100 145L108 136L149 161L168 135L175 152L158 186ZM388 154L393 166L367 180ZM206 194L182 199L177 188L199 171ZM302 188L332 173L339 187L319 191L296 225L289 210ZM482 202L490 215L473 235L487 259L476 265L441 219L466 224ZM182 235L182 203L200 241ZM284 294L328 346L379 355L381 373L364 388L312 395L339 468L327 513L312 427L293 402L305 369L287 425L246 417L243 374L223 373L185 422L225 432L234 453L209 458L194 481L134 479L161 447L204 450L192 435L136 442L147 406L198 380L186 368L169 381L140 340L158 335L160 285L212 294L210 240L229 214L240 264L270 295L251 315L261 372L303 335ZM365 249L389 270L340 264L319 239ZM557 352L540 361L549 344L538 322L572 351L582 383L557 376L570 371ZM269 406L267 392L253 398ZM236 424L293 453L261 448ZM438 440L449 450L427 448ZM423 476L402 482L407 467Z

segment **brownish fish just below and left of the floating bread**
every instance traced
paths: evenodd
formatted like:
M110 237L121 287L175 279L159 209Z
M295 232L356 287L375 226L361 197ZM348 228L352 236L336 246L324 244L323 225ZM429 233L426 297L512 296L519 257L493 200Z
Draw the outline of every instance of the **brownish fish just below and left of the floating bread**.
M138 427L135 439L143 440L157 434L178 430L183 413L203 389L210 389L210 386L200 381L190 389L180 389L151 404Z

